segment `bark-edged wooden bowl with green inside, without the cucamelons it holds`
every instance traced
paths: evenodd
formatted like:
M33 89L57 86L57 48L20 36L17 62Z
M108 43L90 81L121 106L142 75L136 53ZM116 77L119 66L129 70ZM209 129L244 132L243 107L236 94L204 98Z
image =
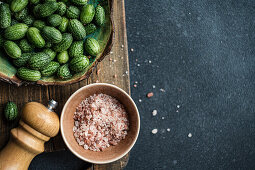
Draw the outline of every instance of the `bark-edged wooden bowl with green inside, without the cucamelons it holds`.
M97 4L98 0L90 0L89 3ZM110 53L114 42L113 0L101 0L100 5L104 7L106 12L105 25L101 28L98 28L95 33L86 36L85 39L87 37L93 37L97 39L102 50L100 54L90 58L90 64L84 71L74 74L73 77L68 80L61 80L55 76L51 76L43 77L37 82L23 81L15 75L17 68L12 64L11 60L9 60L9 57L2 48L0 49L0 80L16 84L17 86L22 84L67 85L88 78L97 63L102 61L104 57Z

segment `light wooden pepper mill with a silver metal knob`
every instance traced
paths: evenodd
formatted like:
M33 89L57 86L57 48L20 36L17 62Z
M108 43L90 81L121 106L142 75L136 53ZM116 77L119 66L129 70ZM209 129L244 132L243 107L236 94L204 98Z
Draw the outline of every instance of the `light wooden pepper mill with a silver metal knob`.
M0 170L27 170L32 159L44 152L44 143L58 134L59 118L53 112L54 100L48 107L27 103L21 114L19 126L11 130L8 144L0 152Z

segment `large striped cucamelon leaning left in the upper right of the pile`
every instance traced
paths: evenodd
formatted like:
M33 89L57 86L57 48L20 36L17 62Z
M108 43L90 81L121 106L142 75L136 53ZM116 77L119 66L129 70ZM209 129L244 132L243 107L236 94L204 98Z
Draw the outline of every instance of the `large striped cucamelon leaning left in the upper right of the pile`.
M86 30L82 23L77 19L71 19L68 24L68 30L72 33L74 39L82 40L86 36Z

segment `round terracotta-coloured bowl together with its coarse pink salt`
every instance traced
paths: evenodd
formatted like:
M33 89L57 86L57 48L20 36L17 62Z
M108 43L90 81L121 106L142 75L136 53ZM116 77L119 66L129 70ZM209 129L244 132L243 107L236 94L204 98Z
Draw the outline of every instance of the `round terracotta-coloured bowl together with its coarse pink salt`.
M95 83L80 88L67 100L60 129L74 155L87 162L105 164L132 149L140 130L140 116L124 90Z

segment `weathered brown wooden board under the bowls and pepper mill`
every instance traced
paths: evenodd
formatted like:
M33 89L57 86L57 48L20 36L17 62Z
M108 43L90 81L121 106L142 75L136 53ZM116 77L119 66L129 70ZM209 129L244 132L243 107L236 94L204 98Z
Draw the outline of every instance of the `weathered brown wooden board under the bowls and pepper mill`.
M114 0L114 26L115 41L112 52L98 64L93 70L90 78L79 83L67 86L21 86L10 85L0 82L0 111L3 113L4 106L8 101L17 103L19 110L26 102L37 101L47 104L49 99L59 102L56 113L60 115L68 97L80 87L90 83L104 82L115 84L130 94L128 46L125 22L124 0ZM9 132L18 125L18 119L13 122L4 120L0 114L0 149L4 147L9 139ZM53 152L65 149L65 144L59 134L45 144L46 152ZM106 165L93 165L93 169L122 169L128 162L129 155L121 160Z

